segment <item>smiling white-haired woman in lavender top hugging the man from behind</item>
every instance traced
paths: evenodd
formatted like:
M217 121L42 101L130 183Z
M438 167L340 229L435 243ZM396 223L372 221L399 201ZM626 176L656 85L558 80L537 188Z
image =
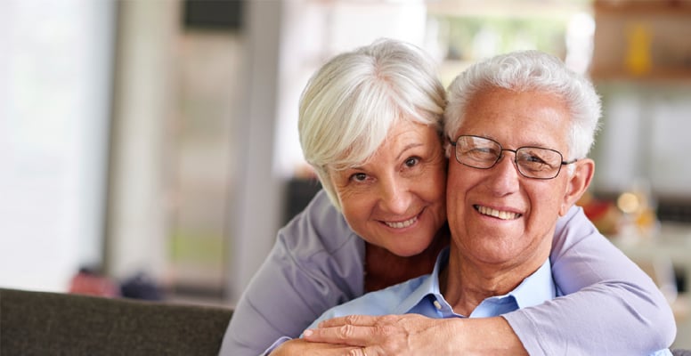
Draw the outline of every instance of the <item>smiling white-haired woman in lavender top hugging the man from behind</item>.
M299 130L305 158L325 192L279 231L236 306L223 355L264 352L280 336L299 336L337 304L433 271L450 236L444 106L434 62L410 44L378 41L336 56L315 73L300 102ZM399 355L457 354L492 344L514 354L565 353L573 350L565 340L574 333L586 354L642 354L673 340L676 329L663 295L580 208L567 209L557 221L550 263L565 294L559 303L473 320L408 315L386 328L348 328L361 337L344 339L325 329L310 339ZM392 330L400 328L410 335L395 337ZM605 329L649 337L603 337ZM296 354L326 346L302 341L284 346L313 347L294 349ZM289 353L289 347L282 350Z

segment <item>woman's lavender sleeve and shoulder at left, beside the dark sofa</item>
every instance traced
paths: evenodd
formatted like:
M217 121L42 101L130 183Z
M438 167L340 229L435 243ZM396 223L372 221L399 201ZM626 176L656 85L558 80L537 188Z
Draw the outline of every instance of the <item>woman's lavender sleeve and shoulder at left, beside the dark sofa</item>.
M259 355L322 312L362 295L364 243L321 191L279 231L225 331L221 356Z

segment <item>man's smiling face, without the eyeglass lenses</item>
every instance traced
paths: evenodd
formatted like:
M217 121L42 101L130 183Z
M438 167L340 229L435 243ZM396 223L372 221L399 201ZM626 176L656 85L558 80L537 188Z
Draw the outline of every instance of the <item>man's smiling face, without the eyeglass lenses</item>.
M541 147L569 159L568 120L565 104L556 95L495 89L473 98L451 140L476 135L499 142L503 149ZM515 153L502 154L489 169L461 165L451 155L446 199L452 238L474 263L537 268L549 255L558 216L571 206L566 198L569 170L563 167L550 180L526 178L516 170Z

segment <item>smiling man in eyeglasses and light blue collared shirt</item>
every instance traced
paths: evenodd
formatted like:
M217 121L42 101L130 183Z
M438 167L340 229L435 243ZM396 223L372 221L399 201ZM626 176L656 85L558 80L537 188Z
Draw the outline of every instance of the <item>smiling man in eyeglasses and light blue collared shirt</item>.
M479 62L449 91L446 153L455 158L446 192L451 247L439 255L431 275L337 306L313 328L352 314L497 316L560 295L549 250L557 219L593 177L595 164L587 155L600 116L597 93L557 58L535 51Z

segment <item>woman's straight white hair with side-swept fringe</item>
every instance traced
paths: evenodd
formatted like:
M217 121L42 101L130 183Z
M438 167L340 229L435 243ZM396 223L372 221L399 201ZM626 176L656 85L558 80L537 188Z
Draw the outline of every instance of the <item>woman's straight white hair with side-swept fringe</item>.
M402 41L379 39L317 70L300 98L298 130L334 206L329 173L362 165L401 120L433 125L441 138L444 104L435 61Z

